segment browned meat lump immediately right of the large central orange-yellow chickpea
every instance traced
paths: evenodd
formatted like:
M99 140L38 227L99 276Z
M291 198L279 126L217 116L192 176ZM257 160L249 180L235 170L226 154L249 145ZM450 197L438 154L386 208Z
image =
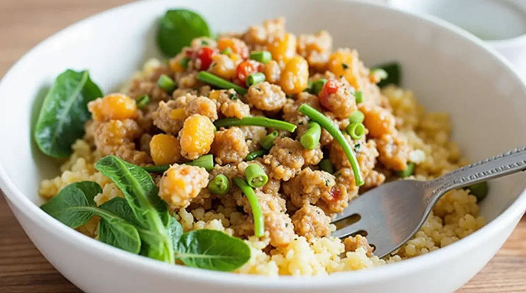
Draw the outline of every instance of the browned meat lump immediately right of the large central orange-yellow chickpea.
M217 164L238 163L248 155L245 133L238 127L230 127L215 134L210 152Z

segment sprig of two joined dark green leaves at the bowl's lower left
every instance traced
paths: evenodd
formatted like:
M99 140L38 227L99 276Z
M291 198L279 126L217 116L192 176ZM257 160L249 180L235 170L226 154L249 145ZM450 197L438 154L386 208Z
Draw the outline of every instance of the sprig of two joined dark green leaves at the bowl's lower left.
M115 213L95 207L93 198L102 188L92 181L72 183L53 199L41 206L49 215L63 224L76 228L87 223L93 215L100 216L99 240L131 253L140 251L137 229Z

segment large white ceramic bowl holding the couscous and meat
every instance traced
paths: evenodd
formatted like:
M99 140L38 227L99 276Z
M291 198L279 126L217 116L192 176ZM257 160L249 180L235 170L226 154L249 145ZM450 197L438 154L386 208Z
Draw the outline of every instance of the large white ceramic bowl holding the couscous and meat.
M404 86L430 110L451 114L463 153L478 160L526 145L526 91L508 61L478 39L430 17L337 0L159 0L125 5L64 29L31 50L0 83L0 187L24 230L60 273L86 292L450 292L497 252L526 207L522 175L491 182L488 224L463 240L387 266L328 277L267 278L167 265L99 243L38 208L38 182L55 163L31 140L45 88L67 68L90 69L107 92L155 54L154 24L169 7L190 7L216 31L244 30L277 16L293 32L328 29L335 47L366 64L398 60Z

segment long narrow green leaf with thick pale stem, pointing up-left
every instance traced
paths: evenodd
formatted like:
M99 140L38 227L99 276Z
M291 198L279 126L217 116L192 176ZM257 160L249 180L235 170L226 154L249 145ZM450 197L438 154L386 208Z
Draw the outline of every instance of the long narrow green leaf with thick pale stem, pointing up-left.
M148 245L147 249L141 249L141 254L147 253L159 261L174 263L174 247L166 229L166 203L159 198L157 186L149 173L116 156L100 159L95 168L123 192L140 224L138 232L141 241Z

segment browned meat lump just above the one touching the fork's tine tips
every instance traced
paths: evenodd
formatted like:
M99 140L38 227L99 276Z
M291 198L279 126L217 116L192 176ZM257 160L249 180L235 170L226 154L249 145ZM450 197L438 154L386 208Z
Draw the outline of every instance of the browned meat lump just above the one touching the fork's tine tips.
M328 193L335 184L335 177L329 173L305 168L290 181L283 183L283 191L299 208L304 204L316 204L321 197L329 198Z

